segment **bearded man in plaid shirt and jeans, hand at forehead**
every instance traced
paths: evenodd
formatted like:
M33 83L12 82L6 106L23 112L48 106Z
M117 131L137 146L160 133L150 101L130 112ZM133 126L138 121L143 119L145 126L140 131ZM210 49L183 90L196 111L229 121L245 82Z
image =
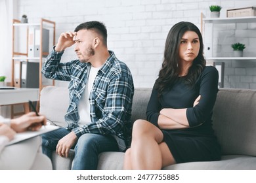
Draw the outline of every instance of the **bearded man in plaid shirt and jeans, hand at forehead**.
M64 50L75 44L79 59L60 63ZM98 154L124 151L131 141L133 78L125 63L108 51L101 22L85 22L62 33L47 57L43 75L70 81L66 128L43 135L43 152L68 157L75 149L72 169L96 169Z

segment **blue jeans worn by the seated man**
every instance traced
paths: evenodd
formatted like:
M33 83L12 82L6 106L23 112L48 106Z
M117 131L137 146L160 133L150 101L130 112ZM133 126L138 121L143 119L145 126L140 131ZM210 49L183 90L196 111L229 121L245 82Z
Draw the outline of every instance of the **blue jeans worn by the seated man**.
M56 151L56 145L62 137L68 135L70 130L60 128L42 135L43 154L52 158ZM119 151L116 139L110 135L99 135L95 133L85 133L79 137L73 147L75 158L72 169L75 170L95 170L98 165L98 154L107 151Z

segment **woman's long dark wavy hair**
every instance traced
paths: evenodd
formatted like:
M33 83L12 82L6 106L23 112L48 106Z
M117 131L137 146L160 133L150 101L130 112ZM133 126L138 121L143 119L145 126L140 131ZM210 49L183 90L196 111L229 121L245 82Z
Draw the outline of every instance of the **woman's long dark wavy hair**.
M203 39L198 27L190 22L179 22L173 25L167 35L162 67L154 86L158 90L158 97L161 97L163 90L171 89L179 77L179 46L182 36L186 31L197 33L200 41L198 56L194 59L192 66L188 69L188 74L185 76L186 84L193 86L205 68L206 61L203 57Z

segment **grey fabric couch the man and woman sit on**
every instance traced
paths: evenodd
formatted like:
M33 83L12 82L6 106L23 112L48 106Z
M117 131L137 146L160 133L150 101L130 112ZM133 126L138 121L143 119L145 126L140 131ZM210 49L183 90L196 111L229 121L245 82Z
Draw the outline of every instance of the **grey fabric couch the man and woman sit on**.
M133 122L146 118L150 88L136 88L133 99ZM41 91L40 112L54 124L65 126L68 89L47 86ZM213 109L213 127L221 143L221 161L179 163L164 169L256 169L256 90L220 89ZM71 169L74 150L68 158L53 154L53 169ZM98 169L122 169L124 153L99 155Z

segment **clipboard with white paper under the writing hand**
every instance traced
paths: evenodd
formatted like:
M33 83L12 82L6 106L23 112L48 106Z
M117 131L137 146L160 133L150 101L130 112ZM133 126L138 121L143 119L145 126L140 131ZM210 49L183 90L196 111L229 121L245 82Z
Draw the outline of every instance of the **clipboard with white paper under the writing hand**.
M42 126L38 131L24 131L22 133L16 133L16 135L14 136L14 139L12 139L12 141L10 141L6 146L30 139L32 137L41 135L43 133L47 133L49 131L56 130L58 128L59 126L56 126L56 125L45 125L45 126Z

